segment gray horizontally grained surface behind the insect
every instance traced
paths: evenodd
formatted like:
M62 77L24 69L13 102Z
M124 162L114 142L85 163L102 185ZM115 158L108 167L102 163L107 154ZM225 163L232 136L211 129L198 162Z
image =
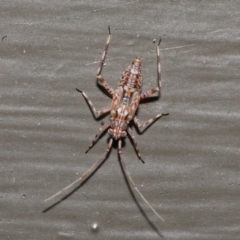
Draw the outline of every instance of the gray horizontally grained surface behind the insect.
M0 239L160 238L116 149L81 189L41 212L106 148L104 136L84 154L100 122L75 87L98 108L110 102L95 85L108 25L103 76L113 87L136 55L144 89L156 86L152 41L163 37L162 97L138 116L170 116L135 133L145 165L129 140L123 153L166 223L137 202L165 239L239 239L239 16L239 1L1 1Z

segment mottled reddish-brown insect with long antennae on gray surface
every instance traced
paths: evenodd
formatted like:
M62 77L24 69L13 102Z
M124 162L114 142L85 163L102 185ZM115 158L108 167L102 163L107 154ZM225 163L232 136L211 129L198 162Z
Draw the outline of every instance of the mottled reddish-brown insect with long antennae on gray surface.
M80 178L78 178L76 181L65 187L64 189L60 190L53 196L47 198L45 202L48 202L55 197L66 193L70 188L73 188L80 184L81 181L86 178L87 176L90 176L97 168L101 165L101 163L107 158L108 153L110 149L112 148L113 141L118 142L118 154L119 159L122 164L123 170L125 172L125 175L127 176L128 181L132 184L133 188L136 190L136 192L140 195L142 200L147 204L147 206L158 216L159 219L164 221L164 219L155 211L155 209L151 206L151 204L146 200L146 198L142 195L142 193L137 188L136 184L134 183L128 168L125 164L125 161L122 157L122 139L125 138L127 135L132 140L132 143L134 145L136 154L138 158L144 163L138 146L137 142L135 140L135 137L132 133L131 128L129 127L129 123L131 121L134 122L137 129L140 133L146 130L153 122L155 122L157 119L159 119L161 116L166 116L168 113L159 113L155 117L149 119L145 123L141 124L139 119L137 118L136 110L138 108L138 105L141 100L153 95L154 93L160 93L161 90L161 66L160 66L160 42L161 38L159 39L159 42L157 44L157 82L158 86L155 88L152 88L149 91L141 93L142 90L142 71L141 71L141 60L139 57L136 57L132 64L129 65L126 70L122 73L120 80L118 82L117 89L114 90L111 88L108 83L105 81L105 79L101 76L101 72L103 69L103 65L105 62L105 58L107 55L110 39L111 39L111 31L110 27L108 27L108 38L105 45L105 49L102 54L102 58L99 64L99 68L97 71L97 82L99 85L101 85L108 94L112 97L112 103L108 107L102 108L101 110L96 110L94 107L92 101L88 98L87 94L80 90L76 89L78 92L82 94L84 99L86 100L87 104L89 105L95 119L98 119L104 114L110 113L110 119L106 123L103 123L102 126L99 128L98 133L96 134L95 138L93 139L92 143L88 147L86 153L94 146L98 138L101 134L103 134L105 131L108 130L108 134L110 136L110 140L108 143L108 146L105 150L105 153L98 159L85 173L81 175Z

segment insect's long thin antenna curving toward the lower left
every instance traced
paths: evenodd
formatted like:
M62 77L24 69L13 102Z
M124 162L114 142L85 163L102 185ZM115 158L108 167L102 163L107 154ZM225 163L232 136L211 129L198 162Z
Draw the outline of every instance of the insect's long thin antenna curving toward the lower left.
M113 140L110 139L108 147L107 147L105 153L102 155L102 157L100 159L98 159L85 173L83 173L80 178L78 178L77 180L75 180L70 185L63 188L62 190L60 190L56 194L54 194L51 197L45 199L44 202L49 202L50 200L53 200L54 198L56 198L57 196L59 196L61 194L66 194L66 192L69 191L70 188L72 188L72 189L76 188L77 185L79 185L84 178L90 176L98 168L98 166L101 165L102 162L106 159L106 157L107 157L107 155L108 155L108 153L109 153L109 151L112 147L112 143L113 143Z

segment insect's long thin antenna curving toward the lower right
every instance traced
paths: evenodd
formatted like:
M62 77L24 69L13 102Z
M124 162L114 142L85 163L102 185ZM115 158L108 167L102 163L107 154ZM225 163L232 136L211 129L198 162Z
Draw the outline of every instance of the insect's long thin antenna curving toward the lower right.
M122 141L119 140L118 141L118 154L119 154L119 158L123 167L123 170L125 172L125 175L127 176L128 181L132 184L133 188L135 189L135 191L139 194L139 196L142 198L142 200L147 204L147 206L153 211L153 213L163 222L164 219L156 212L156 210L152 207L152 205L147 201L147 199L142 195L142 193L139 191L139 189L137 188L136 184L134 183L130 172L128 171L127 165L125 164L125 161L122 158Z

